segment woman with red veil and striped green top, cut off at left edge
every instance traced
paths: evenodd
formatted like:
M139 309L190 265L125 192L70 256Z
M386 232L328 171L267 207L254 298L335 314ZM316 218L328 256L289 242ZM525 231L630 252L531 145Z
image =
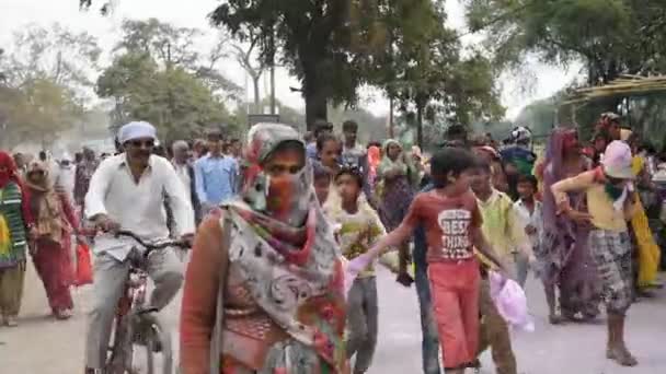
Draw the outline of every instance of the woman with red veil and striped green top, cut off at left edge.
M33 219L14 160L0 152L0 325L18 326Z

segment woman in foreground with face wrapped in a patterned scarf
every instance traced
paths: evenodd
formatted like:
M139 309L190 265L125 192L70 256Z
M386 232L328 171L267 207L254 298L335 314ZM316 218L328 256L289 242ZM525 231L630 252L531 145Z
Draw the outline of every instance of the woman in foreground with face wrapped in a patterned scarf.
M306 145L288 126L255 125L245 163L241 197L208 218L194 243L183 373L344 373L343 264Z

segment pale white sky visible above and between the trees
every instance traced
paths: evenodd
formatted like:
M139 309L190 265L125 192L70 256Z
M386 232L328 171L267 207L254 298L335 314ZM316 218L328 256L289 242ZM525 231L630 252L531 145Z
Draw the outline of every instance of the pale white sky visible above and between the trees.
M97 37L100 46L105 50L102 66L111 61L108 51L119 39L119 28L123 19L157 17L179 26L197 27L205 32L211 40L216 31L210 27L206 15L220 3L219 0L114 0L115 10L112 15L103 17L94 11L81 12L79 0L0 0L0 45L7 47L12 34L30 23L48 26L59 22L72 31L87 31ZM100 3L100 0L93 3ZM194 7L196 4L196 7ZM447 1L449 26L466 31L463 9L458 0ZM479 43L480 36L467 35L463 44ZM210 43L210 42L208 42ZM202 42L205 49L206 42ZM10 49L10 48L5 48ZM570 82L577 73L576 66L570 69L550 67L538 61L527 61L526 69L518 75L505 73L501 77L502 103L507 107L507 118L514 118L520 109L530 102L546 98ZM246 98L252 100L251 83L243 69L233 59L222 61L220 70L241 87L248 87ZM264 77L267 79L266 77ZM262 84L262 93L267 94L267 80ZM299 82L290 77L285 69L276 70L277 98L296 108L303 108L305 102L298 92L289 87L298 87ZM528 90L525 90L527 87ZM380 92L372 89L361 90L361 106L375 115L386 115L389 110L388 101Z

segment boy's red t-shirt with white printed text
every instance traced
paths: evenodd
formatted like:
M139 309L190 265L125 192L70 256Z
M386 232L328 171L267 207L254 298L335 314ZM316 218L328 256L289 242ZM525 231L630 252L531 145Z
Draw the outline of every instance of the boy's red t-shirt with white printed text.
M471 190L452 198L432 190L416 195L405 223L425 227L432 262L473 258L472 229L480 229L483 219Z

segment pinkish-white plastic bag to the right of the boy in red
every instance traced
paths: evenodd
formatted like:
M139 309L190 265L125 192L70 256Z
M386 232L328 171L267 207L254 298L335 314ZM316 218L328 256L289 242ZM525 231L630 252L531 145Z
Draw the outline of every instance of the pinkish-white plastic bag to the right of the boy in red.
M490 282L491 299L504 320L520 330L533 331L535 322L529 315L527 296L520 284L494 271L490 273Z

